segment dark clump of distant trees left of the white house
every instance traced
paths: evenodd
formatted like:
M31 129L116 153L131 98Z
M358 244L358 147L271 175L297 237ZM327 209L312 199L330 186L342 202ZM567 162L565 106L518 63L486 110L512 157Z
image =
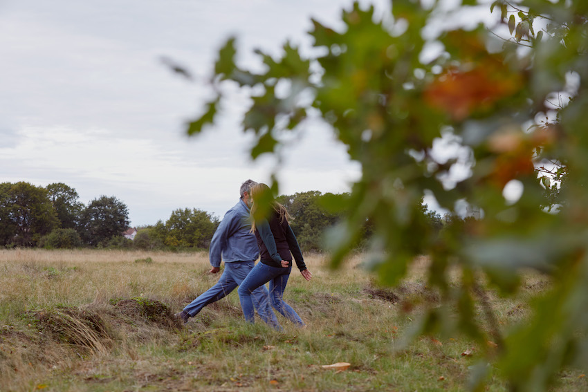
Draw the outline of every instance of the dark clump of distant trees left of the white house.
M129 226L127 205L100 196L88 205L64 183L37 187L26 182L0 184L0 245L6 248L97 247Z

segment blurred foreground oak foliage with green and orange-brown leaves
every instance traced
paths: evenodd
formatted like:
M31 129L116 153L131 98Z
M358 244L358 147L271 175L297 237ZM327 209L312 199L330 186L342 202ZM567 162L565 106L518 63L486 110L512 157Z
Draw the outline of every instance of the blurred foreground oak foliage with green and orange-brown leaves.
M475 3L463 0L462 7ZM366 221L374 251L380 251L375 270L385 283L398 282L415 252L425 250L432 259L428 285L458 312L455 319L445 307L431 308L415 330L459 328L481 347L492 339L499 351L488 349L487 360L503 369L512 389L540 390L562 366L587 362L581 353L588 344L588 2L521 0L518 10L507 1L496 6L497 26L424 34L432 19L450 17L437 1L422 7L416 0L394 0L385 21L373 8L355 3L342 12L344 27L338 30L313 20L316 50L304 51L312 57L289 42L275 57L257 50L264 67L255 72L235 63L235 38L230 38L210 78L214 96L187 133L215 121L226 84L250 95L242 125L255 135L254 159L287 151L279 148L281 135L300 131L306 119L318 115L349 157L362 164L362 177L342 208L347 216L332 236L333 264L342 262ZM544 28L535 25L538 15L549 21ZM496 50L493 28L500 24L513 26L515 39ZM443 50L423 56L430 44ZM573 86L570 77L577 81ZM285 87L279 95L278 82ZM566 89L572 99L554 109L551 95ZM553 110L557 122L538 123ZM455 186L443 183L454 160L437 162L431 153L433 140L443 133L471 151L472 174ZM559 195L565 208L559 214L541 208L544 188L535 162L544 159L567 168L567 186ZM524 192L508 204L502 193L511 181ZM484 218L451 225L439 236L428 230L417 202L425 191L450 212L466 200L481 208ZM457 286L447 279L450 268L461 270ZM487 308L475 277L483 274L506 295L516 290L524 268L550 274L551 290L533 302L529 322L502 330L486 309L485 328L472 317L477 301ZM477 368L472 385L479 386L484 369Z

